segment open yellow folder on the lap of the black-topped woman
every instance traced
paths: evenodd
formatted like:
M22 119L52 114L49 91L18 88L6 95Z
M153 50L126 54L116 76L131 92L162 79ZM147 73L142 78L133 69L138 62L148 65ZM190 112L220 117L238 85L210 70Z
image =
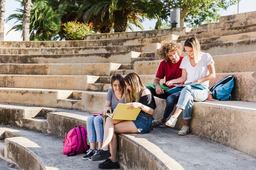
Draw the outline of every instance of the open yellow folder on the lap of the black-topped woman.
M137 116L139 115L140 108L133 108L133 109L127 109L130 106L130 104L117 104L117 107L115 108L114 112L106 113L107 116L111 117L111 119L117 119L117 120L136 120Z

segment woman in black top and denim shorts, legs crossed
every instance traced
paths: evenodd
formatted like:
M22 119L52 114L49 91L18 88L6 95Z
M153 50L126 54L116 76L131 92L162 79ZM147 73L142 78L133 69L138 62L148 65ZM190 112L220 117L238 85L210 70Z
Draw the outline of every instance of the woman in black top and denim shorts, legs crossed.
M126 84L126 103L131 104L128 109L140 108L141 111L135 121L114 120L110 117L104 127L102 148L91 157L92 161L107 159L99 163L102 169L117 169L117 135L118 133L148 133L152 127L153 109L156 108L155 99L150 91L141 83L139 76L130 73L124 77ZM110 152L108 151L110 146ZM108 159L109 158L109 159Z

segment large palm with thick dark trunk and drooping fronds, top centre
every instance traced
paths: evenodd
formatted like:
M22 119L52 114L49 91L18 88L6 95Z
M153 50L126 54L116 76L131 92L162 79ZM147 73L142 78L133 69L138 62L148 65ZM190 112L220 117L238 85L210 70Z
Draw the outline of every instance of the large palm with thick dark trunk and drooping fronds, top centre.
M146 1L147 0L87 0L81 4L79 14L83 15L86 22L92 20L94 17L101 17L101 22L103 22L103 18L108 15L109 25L114 24L115 32L126 31L128 23L135 24L143 29L140 22L143 20L143 17L146 16L144 13Z

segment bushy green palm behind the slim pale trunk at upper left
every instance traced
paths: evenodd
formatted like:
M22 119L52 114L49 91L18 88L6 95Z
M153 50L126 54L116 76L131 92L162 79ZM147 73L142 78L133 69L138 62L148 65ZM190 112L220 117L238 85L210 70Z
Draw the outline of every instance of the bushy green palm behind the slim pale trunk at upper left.
M21 0L17 0L21 2ZM61 16L65 12L66 5L59 4L58 10L54 11L45 0L35 1L31 6L30 17L30 40L56 40L56 35L61 31ZM20 24L14 25L11 30L22 30L23 9L16 9L18 13L11 14L7 22L16 19ZM11 31L9 30L9 31ZM9 33L8 31L8 33Z

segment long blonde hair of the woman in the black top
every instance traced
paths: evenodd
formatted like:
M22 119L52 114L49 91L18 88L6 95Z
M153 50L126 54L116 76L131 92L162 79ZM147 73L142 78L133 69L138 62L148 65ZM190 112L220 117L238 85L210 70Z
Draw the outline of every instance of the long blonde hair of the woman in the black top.
M145 88L142 84L139 76L136 73L129 73L124 77L124 81L130 85L130 91L126 88L126 103L130 102L139 102L139 98L141 97L141 90Z

